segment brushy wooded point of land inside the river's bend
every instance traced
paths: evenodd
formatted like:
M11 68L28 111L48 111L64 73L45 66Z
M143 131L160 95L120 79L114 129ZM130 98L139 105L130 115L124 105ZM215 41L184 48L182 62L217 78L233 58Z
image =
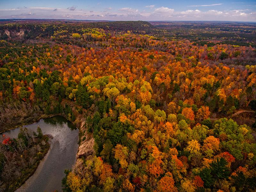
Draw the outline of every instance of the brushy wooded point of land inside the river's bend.
M29 131L28 131L29 132ZM38 133L36 138L26 137L26 132L20 132L15 140L6 139L3 142L4 167L0 174L0 191L15 191L34 174L39 163L50 149L51 135ZM26 146L26 143L28 146ZM2 162L3 163L3 162Z

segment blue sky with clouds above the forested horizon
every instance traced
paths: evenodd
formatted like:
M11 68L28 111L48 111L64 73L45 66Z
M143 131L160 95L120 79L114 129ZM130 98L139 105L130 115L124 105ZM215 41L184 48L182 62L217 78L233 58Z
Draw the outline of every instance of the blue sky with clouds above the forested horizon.
M0 0L0 19L255 21L256 0Z

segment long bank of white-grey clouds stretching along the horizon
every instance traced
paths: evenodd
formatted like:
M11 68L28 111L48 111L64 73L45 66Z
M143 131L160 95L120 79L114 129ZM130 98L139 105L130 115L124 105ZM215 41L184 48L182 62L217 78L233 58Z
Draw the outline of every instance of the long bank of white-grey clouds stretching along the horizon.
M103 8L102 11L80 9L73 5L67 8L58 7L21 7L0 9L1 19L32 18L32 19L79 19L79 20L225 20L225 21L256 21L256 11L250 9L229 9L220 11L201 10L201 7L218 7L221 4L188 5L187 10L176 11L172 7L156 7L147 5L145 10L132 7L113 9ZM193 9L193 7L196 7Z

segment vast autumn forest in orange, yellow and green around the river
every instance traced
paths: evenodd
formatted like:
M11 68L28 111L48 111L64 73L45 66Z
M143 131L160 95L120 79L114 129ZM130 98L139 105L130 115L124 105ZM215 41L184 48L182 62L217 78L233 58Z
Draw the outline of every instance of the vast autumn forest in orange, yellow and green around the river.
M255 31L246 22L0 20L0 132L53 115L75 124L64 192L255 191ZM40 130L1 140L0 191L13 153L41 140Z

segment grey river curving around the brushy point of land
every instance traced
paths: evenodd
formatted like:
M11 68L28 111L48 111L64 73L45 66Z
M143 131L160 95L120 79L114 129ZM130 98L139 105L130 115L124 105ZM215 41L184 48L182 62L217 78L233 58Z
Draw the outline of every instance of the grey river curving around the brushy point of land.
M51 148L38 165L36 172L16 192L60 192L61 180L65 177L64 170L71 169L76 162L78 129L75 125L65 117L54 116L23 127L36 132L38 125L43 134L52 135ZM19 128L3 134L16 138Z

